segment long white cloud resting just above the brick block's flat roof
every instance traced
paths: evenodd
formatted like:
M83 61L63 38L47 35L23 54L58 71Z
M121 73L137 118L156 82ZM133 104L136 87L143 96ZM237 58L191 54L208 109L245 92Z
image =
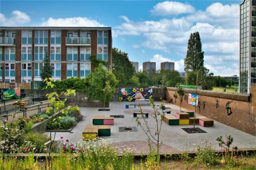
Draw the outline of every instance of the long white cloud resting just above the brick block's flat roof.
M49 18L40 24L42 27L104 27L103 24L96 20L86 17L73 18Z

